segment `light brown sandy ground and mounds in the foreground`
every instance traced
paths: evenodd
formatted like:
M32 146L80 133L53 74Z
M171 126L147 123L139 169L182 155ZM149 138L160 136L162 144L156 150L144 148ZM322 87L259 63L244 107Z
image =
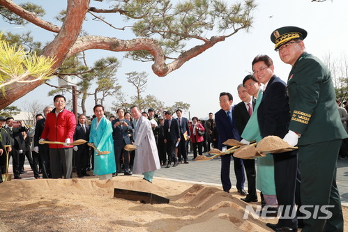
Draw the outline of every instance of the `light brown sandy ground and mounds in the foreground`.
M152 192L170 202L114 199L115 187ZM236 191L158 178L151 184L139 176L9 181L0 185L0 196L0 231L250 232L271 231L266 222L276 222L243 219L247 204Z

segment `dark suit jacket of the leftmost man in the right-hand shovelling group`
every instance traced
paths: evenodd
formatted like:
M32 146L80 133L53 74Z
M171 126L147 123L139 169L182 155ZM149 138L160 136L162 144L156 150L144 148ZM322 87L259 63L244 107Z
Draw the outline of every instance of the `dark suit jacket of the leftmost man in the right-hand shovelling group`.
M239 137L239 132L236 128L236 119L234 117L234 107L232 107L232 123L229 122L229 118L225 112L225 110L220 109L215 113L215 123L216 129L218 130L218 149L222 149L222 143L227 139L236 139L238 141L241 140Z

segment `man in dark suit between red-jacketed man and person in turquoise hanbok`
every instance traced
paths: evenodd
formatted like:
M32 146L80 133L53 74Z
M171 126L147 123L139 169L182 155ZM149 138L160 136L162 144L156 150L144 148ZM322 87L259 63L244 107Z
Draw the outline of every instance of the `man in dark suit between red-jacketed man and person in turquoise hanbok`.
M89 125L86 125L86 116L80 114L77 118L79 123L77 123L74 134L74 141L77 139L84 139L89 141ZM84 176L91 176L87 173L87 164L89 159L89 146L87 144L80 144L74 146L75 150L75 167L76 173L79 178Z

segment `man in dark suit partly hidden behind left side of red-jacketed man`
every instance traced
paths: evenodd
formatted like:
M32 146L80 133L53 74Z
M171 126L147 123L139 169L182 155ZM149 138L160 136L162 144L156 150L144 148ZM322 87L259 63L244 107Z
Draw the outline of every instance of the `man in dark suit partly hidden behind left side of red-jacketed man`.
M50 111L52 111L52 107L45 107L43 109L43 114L45 117ZM43 172L43 178L51 178L51 168L50 168L50 148L48 144L39 144L41 134L43 134L43 129L45 128L46 118L40 119L36 121L35 126L35 135L34 135L34 151L38 153L40 156L40 162Z

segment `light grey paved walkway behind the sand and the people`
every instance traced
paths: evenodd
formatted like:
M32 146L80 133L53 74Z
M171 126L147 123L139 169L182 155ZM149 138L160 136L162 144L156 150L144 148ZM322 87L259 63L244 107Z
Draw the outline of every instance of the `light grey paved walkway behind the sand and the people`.
M206 155L206 154L204 154ZM209 157L209 155L206 155ZM192 160L193 155L189 153L189 164L179 164L176 167L165 168L156 171L155 173L155 183L156 178L168 178L179 181L190 181L193 183L202 183L202 184L210 184L218 187L222 187L220 182L220 158L215 158L213 160L206 161L194 161ZM233 162L233 161L232 161ZM10 162L12 164L12 162ZM338 160L337 162L337 184L338 189L340 190L340 196L343 205L348 206L348 160ZM22 180L33 179L33 172L30 169L29 164L25 164L25 169L27 173L22 174ZM10 173L12 173L12 167L10 165ZM235 188L236 178L234 176L234 168L233 164L231 164L231 172L230 172L232 187ZM73 178L77 177L76 173L73 173ZM16 180L17 181L17 180ZM1 185L0 185L1 186ZM247 188L247 182L245 180L245 189Z

